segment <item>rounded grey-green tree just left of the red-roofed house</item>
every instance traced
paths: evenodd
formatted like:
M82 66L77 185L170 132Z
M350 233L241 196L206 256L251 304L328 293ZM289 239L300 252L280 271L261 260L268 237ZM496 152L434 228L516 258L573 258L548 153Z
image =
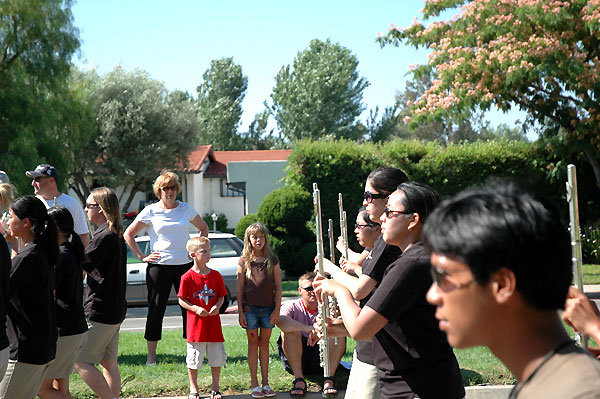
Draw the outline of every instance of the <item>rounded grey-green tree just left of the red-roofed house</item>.
M98 79L92 96L96 135L77 170L84 176L93 170L96 182L123 186L127 209L136 191L148 191L162 168L176 167L195 147L196 107L187 93L168 93L146 72L121 67ZM79 193L89 192L85 179L75 185Z

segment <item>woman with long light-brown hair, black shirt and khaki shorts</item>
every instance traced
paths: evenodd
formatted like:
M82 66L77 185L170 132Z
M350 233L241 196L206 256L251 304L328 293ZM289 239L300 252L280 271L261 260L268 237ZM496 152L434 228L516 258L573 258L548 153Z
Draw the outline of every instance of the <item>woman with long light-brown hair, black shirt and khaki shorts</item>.
M98 226L85 253L89 263L85 315L90 329L75 370L101 399L116 398L121 391L121 375L117 363L119 327L125 319L127 250L119 200L106 187L92 190L87 198L88 219ZM102 373L94 366L100 364Z

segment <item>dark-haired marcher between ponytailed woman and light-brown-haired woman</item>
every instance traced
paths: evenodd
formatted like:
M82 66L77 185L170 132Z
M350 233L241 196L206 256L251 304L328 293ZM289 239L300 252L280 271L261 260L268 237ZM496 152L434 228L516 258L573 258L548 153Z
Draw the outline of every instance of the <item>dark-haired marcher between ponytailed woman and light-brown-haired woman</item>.
M40 398L69 398L69 376L87 332L83 313L83 269L85 254L83 243L74 231L71 212L56 206L48 215L58 228L60 261L54 273L56 322L58 341L56 359L50 365L38 396Z

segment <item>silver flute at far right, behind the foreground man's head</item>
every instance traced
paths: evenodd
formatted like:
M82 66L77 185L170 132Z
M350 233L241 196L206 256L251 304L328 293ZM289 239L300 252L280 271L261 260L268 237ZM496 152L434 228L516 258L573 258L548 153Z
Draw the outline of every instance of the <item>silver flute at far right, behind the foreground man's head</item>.
M571 253L575 287L583 292L583 254L581 250L581 232L579 229L579 202L577 200L577 170L575 165L567 166L567 201L569 202L569 220L571 222ZM577 332L575 341L579 346L587 348L588 337Z

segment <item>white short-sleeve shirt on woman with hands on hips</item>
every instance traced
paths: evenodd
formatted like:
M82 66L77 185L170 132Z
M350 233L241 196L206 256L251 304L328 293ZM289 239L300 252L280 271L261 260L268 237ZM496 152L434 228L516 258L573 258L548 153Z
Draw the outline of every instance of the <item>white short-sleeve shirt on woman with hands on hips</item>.
M177 201L173 209L163 209L159 203L148 205L135 221L148 226L152 252L160 253L161 265L183 265L191 262L185 249L189 240L189 224L198 215L187 202Z

